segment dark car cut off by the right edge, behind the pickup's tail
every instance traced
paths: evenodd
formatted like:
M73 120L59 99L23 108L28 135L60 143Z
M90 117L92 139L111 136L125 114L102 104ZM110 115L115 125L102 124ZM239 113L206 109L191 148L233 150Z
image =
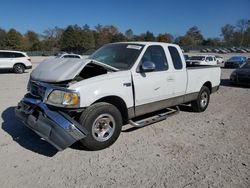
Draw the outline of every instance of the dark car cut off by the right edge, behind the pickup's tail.
M233 71L230 80L233 84L250 85L250 60Z

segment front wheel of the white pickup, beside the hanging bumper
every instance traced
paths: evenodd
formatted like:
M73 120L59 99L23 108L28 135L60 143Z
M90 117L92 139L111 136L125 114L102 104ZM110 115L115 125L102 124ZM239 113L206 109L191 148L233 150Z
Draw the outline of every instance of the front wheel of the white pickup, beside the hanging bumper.
M100 102L88 107L79 119L89 134L80 142L90 150L101 150L112 145L122 129L120 111L112 104Z

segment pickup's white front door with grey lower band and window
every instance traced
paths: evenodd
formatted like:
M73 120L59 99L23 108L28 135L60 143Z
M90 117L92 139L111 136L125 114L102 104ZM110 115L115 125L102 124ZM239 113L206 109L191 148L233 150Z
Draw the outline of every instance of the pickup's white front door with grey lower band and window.
M136 115L158 110L161 108L159 105L161 101L174 95L174 77L168 71L168 62L163 47L160 45L149 46L140 65L146 61L155 64L154 71L144 72L139 66L133 73Z

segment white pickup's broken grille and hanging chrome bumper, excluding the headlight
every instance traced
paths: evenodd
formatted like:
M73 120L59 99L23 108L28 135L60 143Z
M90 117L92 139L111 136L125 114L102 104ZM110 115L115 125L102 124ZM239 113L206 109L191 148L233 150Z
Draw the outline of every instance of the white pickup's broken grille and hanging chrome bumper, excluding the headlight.
M48 97L53 91L66 91L46 83L30 81L26 94L15 109L16 117L58 150L83 139L88 131L63 108L53 109ZM67 91L69 92L69 91Z

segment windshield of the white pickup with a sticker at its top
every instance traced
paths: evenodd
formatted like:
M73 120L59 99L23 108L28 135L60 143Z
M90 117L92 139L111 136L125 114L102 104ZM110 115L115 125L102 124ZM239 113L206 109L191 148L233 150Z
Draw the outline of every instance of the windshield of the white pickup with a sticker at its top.
M143 45L129 43L108 44L88 59L94 59L117 69L128 70L134 65L143 47Z

